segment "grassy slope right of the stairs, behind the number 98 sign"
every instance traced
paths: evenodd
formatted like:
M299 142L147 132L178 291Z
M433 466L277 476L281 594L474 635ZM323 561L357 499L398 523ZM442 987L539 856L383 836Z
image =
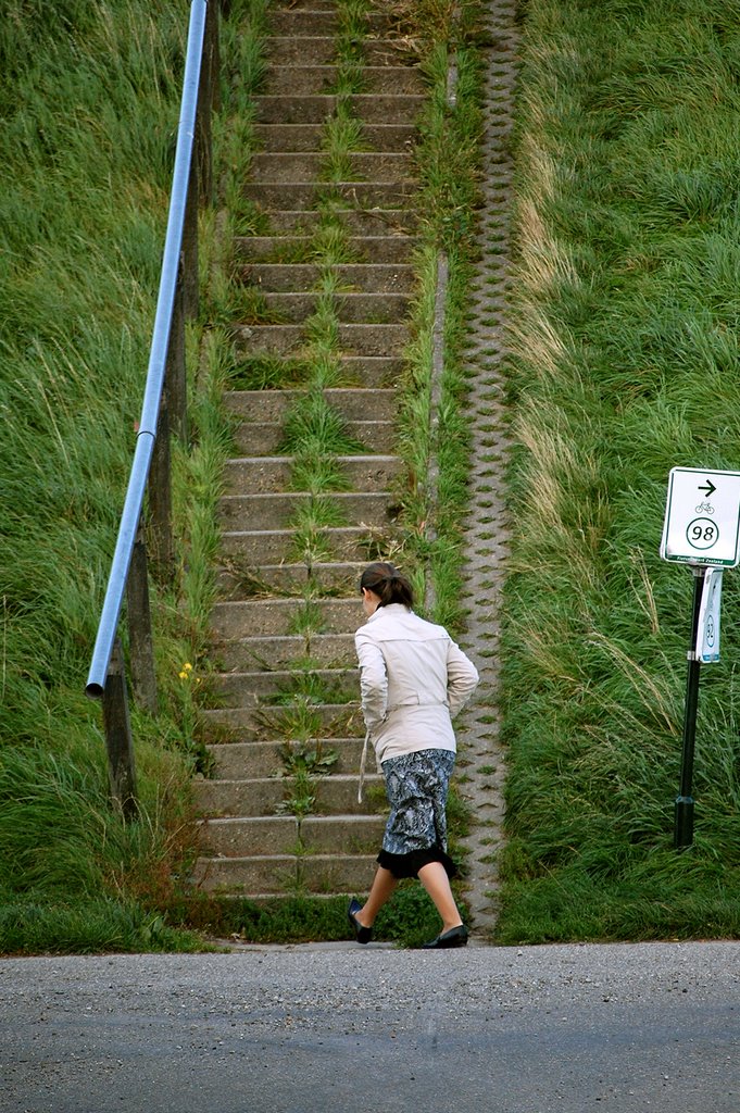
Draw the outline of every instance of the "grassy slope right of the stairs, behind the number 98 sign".
M738 573L672 850L691 577L673 465L737 469L740 8L531 0L501 938L737 934Z

